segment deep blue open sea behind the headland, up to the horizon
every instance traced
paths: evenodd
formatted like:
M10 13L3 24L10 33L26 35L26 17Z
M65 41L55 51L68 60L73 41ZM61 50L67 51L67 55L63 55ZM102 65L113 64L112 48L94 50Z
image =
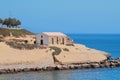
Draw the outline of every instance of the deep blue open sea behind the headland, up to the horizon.
M120 57L120 34L69 34L75 43L102 50L113 58Z

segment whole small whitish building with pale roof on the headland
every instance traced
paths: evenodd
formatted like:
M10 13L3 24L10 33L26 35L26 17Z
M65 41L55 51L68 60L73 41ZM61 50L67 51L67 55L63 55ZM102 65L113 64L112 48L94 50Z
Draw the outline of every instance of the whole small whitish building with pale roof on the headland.
M72 44L73 40L61 32L42 32L36 35L36 43L40 45Z

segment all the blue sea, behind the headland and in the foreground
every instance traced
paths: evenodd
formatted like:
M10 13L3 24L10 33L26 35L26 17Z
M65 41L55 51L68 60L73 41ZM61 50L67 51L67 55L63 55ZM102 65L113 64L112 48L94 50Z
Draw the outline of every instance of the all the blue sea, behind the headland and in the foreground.
M77 44L120 57L120 34L67 34ZM120 80L120 68L98 68L2 74L0 80Z

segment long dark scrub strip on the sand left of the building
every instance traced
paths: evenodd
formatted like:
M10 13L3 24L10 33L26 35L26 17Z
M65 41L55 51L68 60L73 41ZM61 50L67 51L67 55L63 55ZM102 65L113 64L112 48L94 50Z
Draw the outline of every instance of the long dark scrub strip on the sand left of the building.
M31 50L31 49L38 48L38 46L36 44L21 44L21 43L16 43L16 42L6 42L6 44L15 49Z

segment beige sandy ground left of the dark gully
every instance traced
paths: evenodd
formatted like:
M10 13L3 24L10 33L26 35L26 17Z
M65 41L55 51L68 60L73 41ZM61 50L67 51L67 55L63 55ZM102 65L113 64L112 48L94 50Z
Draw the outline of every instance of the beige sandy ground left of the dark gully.
M40 66L54 65L52 51L48 49L18 50L0 42L0 64L36 64Z

